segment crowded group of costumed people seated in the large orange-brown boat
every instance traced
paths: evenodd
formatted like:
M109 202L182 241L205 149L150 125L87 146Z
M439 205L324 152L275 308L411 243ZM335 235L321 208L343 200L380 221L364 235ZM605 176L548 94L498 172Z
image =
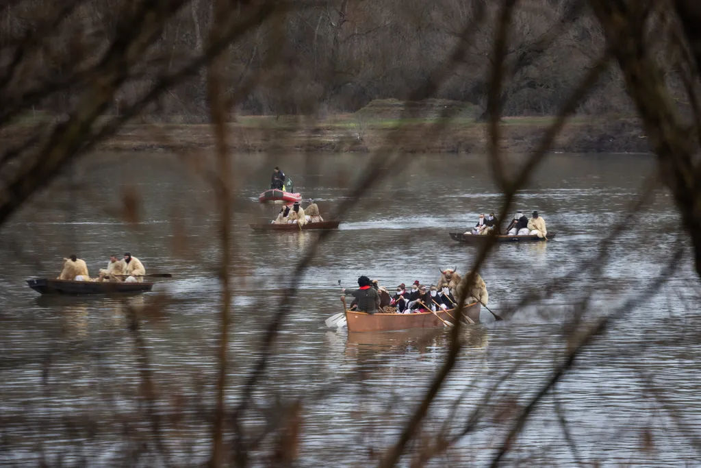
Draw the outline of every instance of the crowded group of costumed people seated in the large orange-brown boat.
M367 276L360 276L358 278L359 288L355 290L343 288L343 294L354 297L348 310L357 310L367 314L375 314L376 312L385 314L439 312L457 307L460 281L461 276L455 272L455 269L446 269L442 270L441 278L437 284L426 286L426 284L416 280L411 284L411 288L407 289L402 283L397 286L395 294L390 295L386 288L379 286L376 279L371 280ZM481 302L486 305L488 297L484 280L478 273L475 273L474 284L468 289L465 304Z

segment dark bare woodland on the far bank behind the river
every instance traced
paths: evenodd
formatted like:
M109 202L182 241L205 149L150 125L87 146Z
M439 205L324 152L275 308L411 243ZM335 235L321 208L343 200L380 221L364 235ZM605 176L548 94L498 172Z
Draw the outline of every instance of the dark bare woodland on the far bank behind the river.
M484 2L480 4L479 2ZM212 25L212 0L183 2L151 48L149 67L132 72L114 102L129 101L149 88L158 74L171 72L203 51ZM119 35L128 0L24 0L0 8L0 60L8 66L15 46L41 37L32 61L15 73L50 79L62 90L37 102L35 109L64 112L80 90L80 70L97 60ZM484 13L469 39L461 29ZM234 42L222 60L229 95L240 93L238 111L250 114L355 112L374 99L406 98L429 77L458 41L469 46L461 66L440 87L437 98L472 102L484 109L493 55L498 5L485 0L393 2L388 0L290 4ZM579 76L601 53L599 22L576 0L519 3L510 31L505 81L505 115L551 115L576 86ZM25 54L26 54L25 48ZM250 83L255 83L251 86ZM20 90L18 95L26 94ZM583 114L632 114L620 72L611 70L580 106ZM167 119L207 117L205 73L172 88L147 114Z

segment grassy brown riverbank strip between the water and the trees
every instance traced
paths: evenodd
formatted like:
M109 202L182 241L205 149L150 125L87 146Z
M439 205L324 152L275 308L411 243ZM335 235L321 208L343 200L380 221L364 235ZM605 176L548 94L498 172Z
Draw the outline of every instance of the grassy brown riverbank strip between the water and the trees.
M242 116L229 123L231 147L237 152L371 152L400 131L394 149L407 153L482 153L487 125L471 117L446 123L437 119L359 118L358 113L311 121L297 116ZM552 123L548 117L503 119L502 147L528 152ZM442 131L438 127L444 125ZM434 135L437 137L434 138ZM396 136L396 135L395 135ZM100 145L110 151L210 149L215 146L207 124L142 123L125 126ZM647 138L635 119L572 119L553 151L573 153L649 152Z

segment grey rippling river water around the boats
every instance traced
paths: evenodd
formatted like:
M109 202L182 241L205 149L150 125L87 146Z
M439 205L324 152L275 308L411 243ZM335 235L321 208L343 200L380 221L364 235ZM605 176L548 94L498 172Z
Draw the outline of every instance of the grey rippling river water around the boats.
M231 180L236 199L231 272L233 323L229 357L230 408L259 356L264 330L295 262L315 236L255 233L279 209L257 203L279 165L322 215L348 194L368 156L237 155ZM203 169L204 168L204 169ZM593 319L627 300L625 317L587 348L575 368L540 402L505 464L572 466L701 466L701 320L690 255L659 290L653 286L678 247L679 217L667 192L656 193L595 260L599 242L625 216L655 170L651 156L554 154L540 168L517 208L538 210L555 239L499 246L481 270L489 306L506 312L529 293L576 274L531 305L495 323L463 330L465 348L426 421L420 441L442 428L455 434L475 408L489 408L474 431L428 466L484 466L562 361L564 325L592 295ZM32 201L1 232L0 462L26 464L163 464L144 416L144 350L161 415L164 451L178 466L206 460L216 376L219 323L217 214L207 165L161 153L97 154L76 165ZM204 174L203 174L204 172ZM324 319L341 310L338 281L360 274L393 288L435 283L439 268L465 272L477 249L452 241L451 231L497 210L500 196L481 156L407 156L407 167L366 194L319 248L280 327L264 378L245 413L247 437L264 432L301 401L300 466L373 466L426 394L447 353L449 333L430 330L348 335ZM138 206L137 222L120 218L124 194ZM24 279L56 276L61 258L76 253L90 273L110 253L129 250L150 272L170 272L154 292L106 297L38 297ZM586 265L600 267L591 273ZM591 266L591 265L590 265ZM656 286L655 286L656 287ZM651 293L650 293L651 292ZM650 297L648 297L650 293ZM128 310L142 311L135 335ZM142 346L135 344L144 340ZM512 370L498 389L492 386ZM493 396L489 405L480 403ZM566 420L563 430L561 420ZM570 439L573 443L568 443ZM228 440L228 439L227 439ZM273 436L252 455L268 465ZM247 439L250 441L250 439ZM407 448L402 464L423 450ZM272 455L271 455L272 456Z

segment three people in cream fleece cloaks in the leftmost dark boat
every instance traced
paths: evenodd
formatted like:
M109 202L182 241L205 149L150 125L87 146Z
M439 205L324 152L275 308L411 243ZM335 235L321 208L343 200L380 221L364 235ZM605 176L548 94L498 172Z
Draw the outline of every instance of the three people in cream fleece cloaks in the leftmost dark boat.
M71 281L113 281L126 283L141 283L144 281L146 269L144 264L130 253L125 253L124 258L111 255L107 268L100 269L100 275L91 279L88 273L88 265L85 260L71 255L63 259L63 269L58 279Z

